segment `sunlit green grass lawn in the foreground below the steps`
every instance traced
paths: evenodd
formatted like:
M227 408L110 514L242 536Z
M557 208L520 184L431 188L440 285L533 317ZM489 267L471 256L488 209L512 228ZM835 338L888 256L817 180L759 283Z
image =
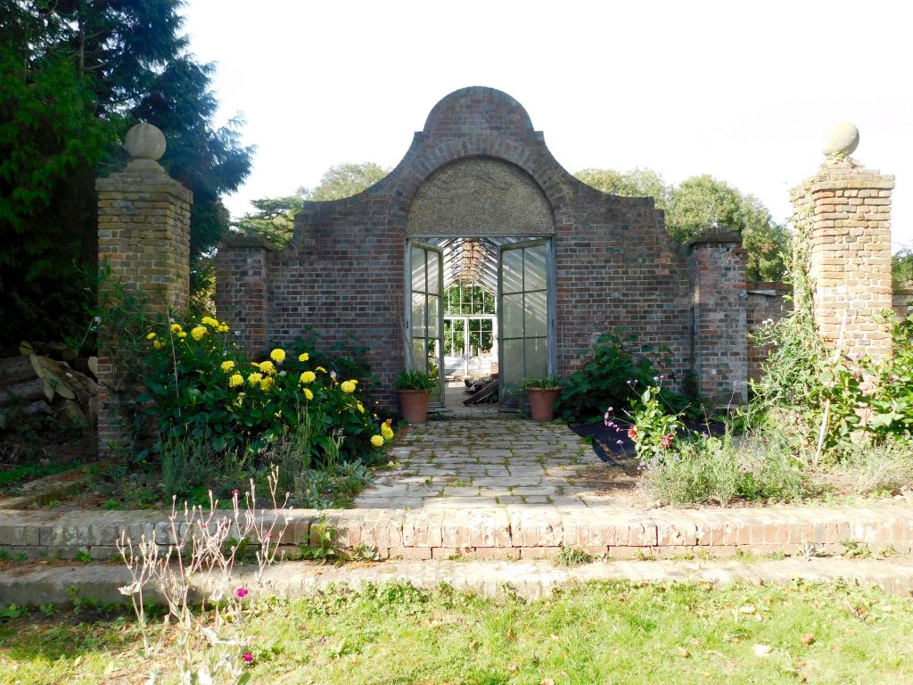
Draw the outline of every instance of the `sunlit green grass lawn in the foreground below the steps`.
M529 603L385 585L274 602L252 626L270 685L913 683L913 600L847 585L610 583ZM131 618L11 618L0 683L142 682L137 646Z

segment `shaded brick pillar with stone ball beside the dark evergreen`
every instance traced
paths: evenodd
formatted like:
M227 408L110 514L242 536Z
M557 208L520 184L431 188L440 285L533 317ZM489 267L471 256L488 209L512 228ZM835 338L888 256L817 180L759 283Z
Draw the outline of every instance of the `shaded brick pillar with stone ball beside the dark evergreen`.
M156 162L164 153L161 131L138 124L127 133L131 162L119 174L98 179L99 265L110 269L100 300L115 285L138 295L150 315L185 312L190 299L190 206L193 194ZM101 331L122 325L103 323ZM117 352L99 341L99 448L101 454L129 445L119 393L131 394Z

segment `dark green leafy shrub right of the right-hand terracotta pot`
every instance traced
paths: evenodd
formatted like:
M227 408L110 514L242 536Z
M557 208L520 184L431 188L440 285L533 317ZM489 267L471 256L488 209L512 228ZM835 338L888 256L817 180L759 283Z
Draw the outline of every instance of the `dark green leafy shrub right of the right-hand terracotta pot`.
M657 377L650 358L651 355L656 356L656 351L645 345L641 354L635 356L629 349L635 341L636 337L625 335L623 328L615 328L599 336L589 351L590 361L561 384L564 390L558 403L558 413L563 420L593 423L603 416L607 406L619 409L630 406L629 382L644 387ZM665 349L659 351L666 352ZM666 357L658 361L670 363ZM683 395L668 388L661 392L669 406L680 410L687 405Z

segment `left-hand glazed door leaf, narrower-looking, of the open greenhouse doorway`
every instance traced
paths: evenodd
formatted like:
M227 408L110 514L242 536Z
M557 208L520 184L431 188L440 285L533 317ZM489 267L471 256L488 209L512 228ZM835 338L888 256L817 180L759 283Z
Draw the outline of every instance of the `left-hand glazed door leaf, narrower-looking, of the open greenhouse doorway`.
M440 249L410 241L408 261L411 278L406 294L406 332L410 369L422 371L437 379L431 393L431 404L444 404L444 258Z

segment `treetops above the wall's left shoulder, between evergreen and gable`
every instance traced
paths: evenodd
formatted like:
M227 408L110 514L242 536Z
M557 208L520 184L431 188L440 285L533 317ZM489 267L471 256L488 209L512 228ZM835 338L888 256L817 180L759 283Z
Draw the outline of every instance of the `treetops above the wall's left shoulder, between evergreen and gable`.
M373 162L336 164L320 177L320 184L313 190L300 187L295 195L254 200L251 204L257 212L243 216L234 227L242 233L262 237L277 248L284 248L294 234L295 215L306 200L326 202L357 195L389 173L389 168Z

